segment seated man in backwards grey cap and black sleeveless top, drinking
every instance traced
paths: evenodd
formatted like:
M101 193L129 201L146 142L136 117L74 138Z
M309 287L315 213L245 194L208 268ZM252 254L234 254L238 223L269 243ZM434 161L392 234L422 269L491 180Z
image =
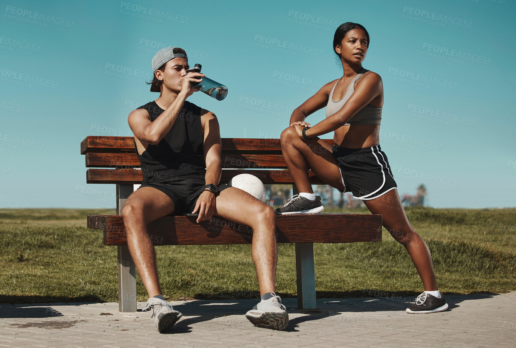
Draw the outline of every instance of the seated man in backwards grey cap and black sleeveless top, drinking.
M186 72L186 52L179 47L163 48L152 59L152 69L151 92L160 92L159 97L128 116L143 181L122 211L127 245L149 294L144 310L152 310L160 333L182 316L165 301L160 289L147 224L170 214L198 213L197 222L218 216L252 227L251 256L261 302L246 317L256 326L283 330L288 314L275 293L275 213L249 193L219 185L219 123L212 112L186 101L197 91L191 82L200 82L204 76Z

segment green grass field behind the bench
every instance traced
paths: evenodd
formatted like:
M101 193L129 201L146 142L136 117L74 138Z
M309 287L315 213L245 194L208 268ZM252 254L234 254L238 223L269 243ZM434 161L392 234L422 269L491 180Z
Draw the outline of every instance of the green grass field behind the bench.
M406 211L430 248L441 291L516 289L516 209ZM85 227L87 214L111 213L1 209L0 303L118 301L116 247L102 245L102 231ZM405 248L385 230L382 242L317 243L314 249L317 297L360 297L366 289L422 291ZM169 299L256 298L250 245L170 245L156 253ZM138 301L147 300L139 278L137 288ZM278 245L277 291L296 296L293 244Z

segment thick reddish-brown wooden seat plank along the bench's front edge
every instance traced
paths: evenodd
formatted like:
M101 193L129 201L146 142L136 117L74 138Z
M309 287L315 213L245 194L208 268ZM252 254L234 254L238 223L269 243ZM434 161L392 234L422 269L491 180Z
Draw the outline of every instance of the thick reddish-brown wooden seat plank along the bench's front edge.
M252 228L219 217L196 223L196 218L169 216L148 225L154 245L245 244ZM125 245L127 238L120 215L92 218L90 228L104 230L104 245ZM90 223L94 221L94 223ZM99 223L100 221L100 223ZM382 217L378 214L313 214L276 216L278 243L350 243L381 241Z

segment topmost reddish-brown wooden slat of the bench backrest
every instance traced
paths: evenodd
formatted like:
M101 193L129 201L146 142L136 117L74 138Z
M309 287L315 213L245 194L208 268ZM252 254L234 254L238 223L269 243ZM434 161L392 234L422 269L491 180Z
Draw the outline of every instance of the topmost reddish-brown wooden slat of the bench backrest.
M222 153L281 153L279 139L222 138ZM333 139L324 139L333 145ZM88 136L80 143L80 153L135 153L133 137Z

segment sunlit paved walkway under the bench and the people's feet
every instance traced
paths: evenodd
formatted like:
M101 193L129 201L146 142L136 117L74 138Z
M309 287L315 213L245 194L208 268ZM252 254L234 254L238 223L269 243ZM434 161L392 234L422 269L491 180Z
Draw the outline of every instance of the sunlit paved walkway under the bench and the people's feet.
M382 294L371 292L372 296ZM255 300L175 301L183 318L159 334L150 312L117 303L0 304L0 347L516 347L516 292L446 296L449 309L408 314L402 297L320 299L298 310L284 299L283 332L252 326Z

